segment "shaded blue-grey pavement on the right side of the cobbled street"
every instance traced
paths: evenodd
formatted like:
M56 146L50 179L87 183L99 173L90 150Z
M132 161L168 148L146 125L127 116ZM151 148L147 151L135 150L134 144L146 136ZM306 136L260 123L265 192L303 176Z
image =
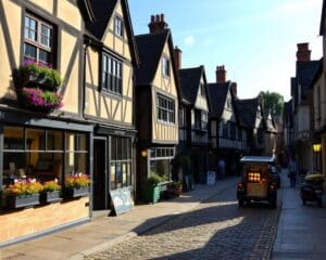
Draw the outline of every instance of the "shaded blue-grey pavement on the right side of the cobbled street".
M323 208L318 208L316 203L304 206L300 198L300 184L296 188L290 187L285 170L281 181L283 206L272 259L326 259L325 192Z

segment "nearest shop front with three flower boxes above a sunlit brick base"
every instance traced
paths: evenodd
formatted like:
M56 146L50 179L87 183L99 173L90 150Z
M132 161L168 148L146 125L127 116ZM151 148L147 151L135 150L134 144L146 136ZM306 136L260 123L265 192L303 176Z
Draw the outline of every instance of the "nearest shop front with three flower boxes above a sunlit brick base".
M89 125L1 112L0 246L89 220L91 138Z

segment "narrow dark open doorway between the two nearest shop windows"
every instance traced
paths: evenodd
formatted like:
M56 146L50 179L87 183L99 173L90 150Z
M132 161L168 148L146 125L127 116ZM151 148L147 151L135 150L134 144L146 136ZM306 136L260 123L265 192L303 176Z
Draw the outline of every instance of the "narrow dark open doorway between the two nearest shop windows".
M108 209L108 144L106 139L93 139L93 194L95 210Z

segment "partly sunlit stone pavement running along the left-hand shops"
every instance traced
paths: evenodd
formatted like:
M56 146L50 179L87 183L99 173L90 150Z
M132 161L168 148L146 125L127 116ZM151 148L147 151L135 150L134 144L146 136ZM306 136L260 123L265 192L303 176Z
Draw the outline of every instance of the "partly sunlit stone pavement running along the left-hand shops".
M124 239L137 236L175 214L187 212L227 187L235 186L239 178L228 178L215 185L197 185L180 197L154 205L136 206L118 217L100 217L91 222L40 238L0 248L0 259L83 259ZM235 190L236 191L236 190Z

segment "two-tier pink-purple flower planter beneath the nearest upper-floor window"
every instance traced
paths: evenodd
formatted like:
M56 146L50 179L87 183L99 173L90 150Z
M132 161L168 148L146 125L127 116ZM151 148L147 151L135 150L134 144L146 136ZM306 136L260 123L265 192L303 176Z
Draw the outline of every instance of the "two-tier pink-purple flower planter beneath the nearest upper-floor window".
M62 79L51 64L26 60L14 72L17 101L25 109L51 113L63 106L57 93Z

